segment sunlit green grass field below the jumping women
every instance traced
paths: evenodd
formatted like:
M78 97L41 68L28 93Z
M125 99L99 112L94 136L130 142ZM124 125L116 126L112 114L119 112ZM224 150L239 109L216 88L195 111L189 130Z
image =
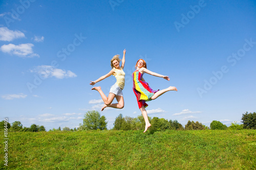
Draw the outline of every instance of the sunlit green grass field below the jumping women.
M8 168L255 169L256 130L9 132Z

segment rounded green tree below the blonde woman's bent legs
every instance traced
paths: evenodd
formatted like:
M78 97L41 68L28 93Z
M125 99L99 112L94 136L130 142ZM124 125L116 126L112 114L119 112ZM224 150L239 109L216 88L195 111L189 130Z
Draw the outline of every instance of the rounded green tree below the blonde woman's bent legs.
M92 110L84 114L83 125L80 129L86 130L106 130L106 118L105 116L100 116L98 111Z

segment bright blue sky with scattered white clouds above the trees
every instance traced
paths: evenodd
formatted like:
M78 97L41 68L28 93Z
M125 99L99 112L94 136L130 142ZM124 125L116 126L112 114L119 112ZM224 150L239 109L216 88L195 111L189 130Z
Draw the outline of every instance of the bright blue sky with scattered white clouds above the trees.
M0 118L75 128L97 110L111 129L120 113L141 114L131 75L142 58L170 78L144 75L153 89L178 89L148 102L148 116L240 123L256 111L255 30L255 1L1 1ZM89 83L124 48L124 108L101 112ZM97 86L108 95L115 81Z

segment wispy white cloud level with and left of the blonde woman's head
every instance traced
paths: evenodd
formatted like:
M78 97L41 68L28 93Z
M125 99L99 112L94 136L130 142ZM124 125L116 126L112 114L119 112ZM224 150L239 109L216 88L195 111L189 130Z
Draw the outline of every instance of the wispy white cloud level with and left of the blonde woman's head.
M74 72L70 70L66 71L66 70L54 68L51 65L37 66L30 71L36 72L37 74L41 75L43 78L55 77L57 79L63 79L63 78L77 77L76 74L74 74Z

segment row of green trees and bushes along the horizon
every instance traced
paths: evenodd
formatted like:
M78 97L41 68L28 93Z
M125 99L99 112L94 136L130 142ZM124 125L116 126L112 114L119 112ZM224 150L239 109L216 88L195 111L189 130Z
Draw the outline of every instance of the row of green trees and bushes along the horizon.
M185 127L183 127L178 120L167 120L164 118L158 117L148 117L148 120L151 123L151 129L153 131L164 131L164 130L225 130L225 129L256 129L256 112L253 113L244 113L241 118L243 124L239 125L237 122L231 123L229 127L223 125L217 120L213 120L210 123L210 127L203 125L202 123L194 122L188 120ZM81 131L81 130L107 130L108 122L106 121L105 116L101 116L98 111L92 110L84 114L83 124L79 124L79 127L76 129L70 129L65 127L62 131ZM135 118L130 116L123 117L122 114L119 114L114 122L114 127L112 130L144 130L145 122L142 115L139 115ZM0 129L4 129L5 123L4 120L0 122ZM39 126L32 124L30 128L23 127L22 123L15 121L12 124L7 123L7 128L9 131L19 131L19 132L40 132L46 131L44 126ZM61 128L53 128L49 131L61 131Z

